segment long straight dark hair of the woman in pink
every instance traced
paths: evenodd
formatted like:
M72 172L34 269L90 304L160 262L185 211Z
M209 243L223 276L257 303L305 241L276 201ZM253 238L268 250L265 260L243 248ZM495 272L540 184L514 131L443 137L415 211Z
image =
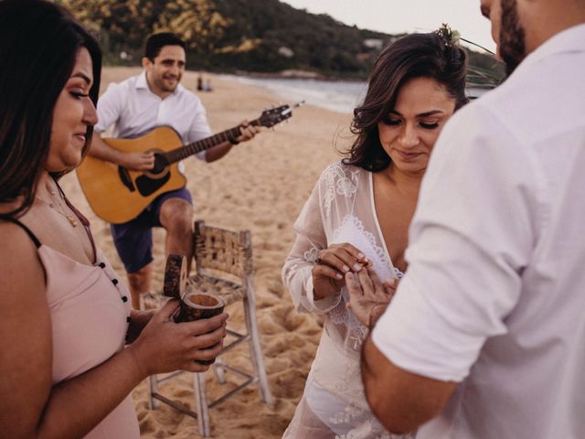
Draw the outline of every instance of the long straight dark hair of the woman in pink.
M101 49L67 10L44 0L0 1L0 41L0 203L23 197L0 217L19 216L33 204L47 162L53 110L80 48L90 52L90 98L98 102ZM88 127L82 155L92 132Z

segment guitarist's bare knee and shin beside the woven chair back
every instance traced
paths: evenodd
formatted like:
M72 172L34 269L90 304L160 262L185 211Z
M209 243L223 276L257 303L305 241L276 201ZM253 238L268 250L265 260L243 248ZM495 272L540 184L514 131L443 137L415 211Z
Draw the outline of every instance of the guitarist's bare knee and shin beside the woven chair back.
M166 254L183 254L187 273L193 259L193 207L183 198L168 198L159 220L166 230Z

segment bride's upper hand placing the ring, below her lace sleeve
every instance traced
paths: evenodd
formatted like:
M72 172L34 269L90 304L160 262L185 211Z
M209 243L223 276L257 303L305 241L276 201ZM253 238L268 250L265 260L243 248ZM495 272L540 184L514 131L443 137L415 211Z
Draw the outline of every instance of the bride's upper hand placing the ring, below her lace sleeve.
M359 272L369 263L364 253L347 242L320 251L311 272L315 300L338 293L346 284L346 273Z

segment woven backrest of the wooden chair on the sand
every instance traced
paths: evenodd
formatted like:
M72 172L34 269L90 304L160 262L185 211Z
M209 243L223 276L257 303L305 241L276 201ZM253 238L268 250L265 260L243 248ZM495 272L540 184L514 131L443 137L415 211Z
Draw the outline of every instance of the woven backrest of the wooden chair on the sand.
M253 272L250 230L232 231L210 227L205 221L195 221L194 257L197 274L214 277L228 273L241 279L242 284Z

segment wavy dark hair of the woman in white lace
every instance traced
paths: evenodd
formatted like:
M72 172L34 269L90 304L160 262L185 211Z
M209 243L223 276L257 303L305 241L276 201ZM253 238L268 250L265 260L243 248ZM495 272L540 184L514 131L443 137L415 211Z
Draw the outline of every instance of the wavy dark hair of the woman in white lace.
M364 103L354 110L351 131L356 141L343 162L372 172L386 169L390 157L380 144L378 123L394 108L400 87L414 78L436 80L458 109L467 102L466 73L463 48L435 32L401 37L384 48L370 72Z

